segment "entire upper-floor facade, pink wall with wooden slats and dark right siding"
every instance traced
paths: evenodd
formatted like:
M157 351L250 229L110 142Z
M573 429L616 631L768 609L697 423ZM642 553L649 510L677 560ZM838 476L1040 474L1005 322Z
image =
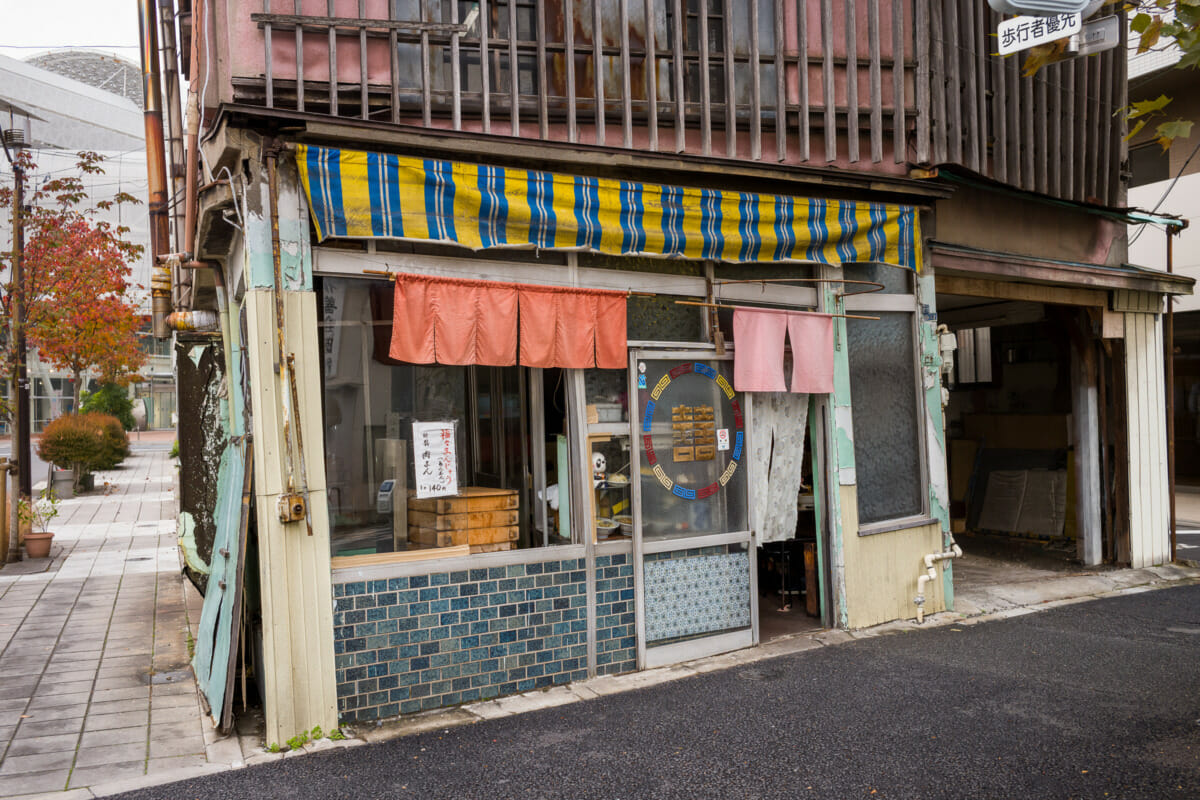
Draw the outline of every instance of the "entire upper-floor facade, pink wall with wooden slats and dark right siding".
M1021 78L990 55L997 20L983 0L226 0L230 89L206 100L892 175L956 163L1115 200L1121 50Z

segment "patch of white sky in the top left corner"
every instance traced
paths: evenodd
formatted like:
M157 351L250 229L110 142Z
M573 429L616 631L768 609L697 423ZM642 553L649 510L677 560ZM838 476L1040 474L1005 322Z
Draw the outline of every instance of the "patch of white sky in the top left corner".
M25 60L61 47L139 64L137 0L0 0L0 54Z

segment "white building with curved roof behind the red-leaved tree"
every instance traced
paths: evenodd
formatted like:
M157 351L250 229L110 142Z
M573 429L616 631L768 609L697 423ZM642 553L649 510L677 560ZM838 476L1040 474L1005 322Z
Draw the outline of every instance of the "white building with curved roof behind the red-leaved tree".
M72 77L60 74L68 72ZM132 77L131 77L132 73ZM77 80L86 79L89 83ZM130 80L138 79L138 91L130 91ZM91 83L94 82L94 83ZM0 103L11 104L25 114L5 114L0 127L24 130L28 149L34 152L37 170L30 185L49 175L74 168L80 150L104 156L102 175L83 175L89 197L101 200L119 191L133 197L146 193L145 125L140 102L140 70L114 55L72 50L46 53L29 61L0 56ZM12 173L7 164L0 170L7 184ZM131 241L146 246L142 258L132 264L131 282L139 287L134 296L146 306L149 319L150 284L149 228L145 205L122 205L97 216L112 224L128 225ZM5 241L10 240L10 219L0 219ZM149 329L148 329L149 330ZM174 427L175 391L169 347L149 335L145 348L150 357L142 369L143 380L134 384L134 398L143 399L146 426ZM30 353L30 407L32 429L72 410L73 386L67 372L54 369ZM94 377L88 377L90 385ZM86 389L88 386L85 386Z

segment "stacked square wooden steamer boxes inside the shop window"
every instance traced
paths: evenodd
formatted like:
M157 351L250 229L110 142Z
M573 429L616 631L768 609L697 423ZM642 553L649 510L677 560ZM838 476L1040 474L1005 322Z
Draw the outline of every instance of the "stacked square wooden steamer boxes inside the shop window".
M521 533L516 489L464 486L448 498L408 499L408 542L416 547L469 545L472 553L511 551Z

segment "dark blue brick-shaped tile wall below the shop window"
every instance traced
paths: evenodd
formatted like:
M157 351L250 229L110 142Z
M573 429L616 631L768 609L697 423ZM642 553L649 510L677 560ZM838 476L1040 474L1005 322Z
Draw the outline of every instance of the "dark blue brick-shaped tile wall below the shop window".
M617 570L612 581L628 579L629 596L616 585L605 593L616 593L616 602L604 603L605 619L614 620L605 630L626 630L617 618L628 614L629 633L617 637L624 640L632 637L632 573L629 557L613 558L624 563L604 571ZM583 570L583 559L565 559L335 584L341 720L391 717L587 678Z

